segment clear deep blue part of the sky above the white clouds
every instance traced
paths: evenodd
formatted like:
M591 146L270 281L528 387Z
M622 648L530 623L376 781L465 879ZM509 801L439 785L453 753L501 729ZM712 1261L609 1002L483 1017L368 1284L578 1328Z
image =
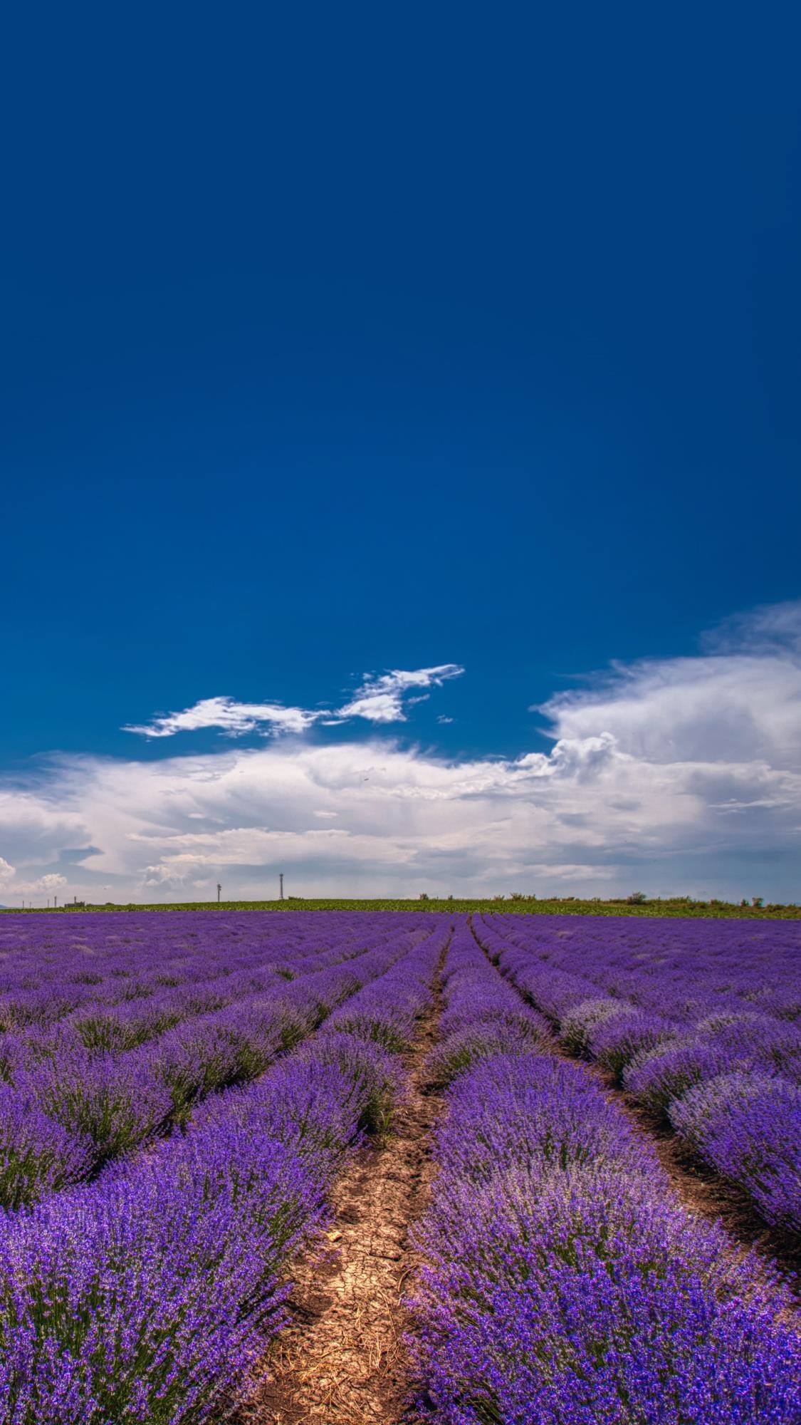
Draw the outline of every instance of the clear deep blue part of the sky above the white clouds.
M415 735L515 754L798 596L795 7L11 27L1 767L445 661Z

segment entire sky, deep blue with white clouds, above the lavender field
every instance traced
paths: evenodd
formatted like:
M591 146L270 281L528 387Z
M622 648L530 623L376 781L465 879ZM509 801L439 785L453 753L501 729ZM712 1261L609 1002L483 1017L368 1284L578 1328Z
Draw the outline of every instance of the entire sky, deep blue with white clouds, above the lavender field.
M13 26L0 899L795 899L797 13Z

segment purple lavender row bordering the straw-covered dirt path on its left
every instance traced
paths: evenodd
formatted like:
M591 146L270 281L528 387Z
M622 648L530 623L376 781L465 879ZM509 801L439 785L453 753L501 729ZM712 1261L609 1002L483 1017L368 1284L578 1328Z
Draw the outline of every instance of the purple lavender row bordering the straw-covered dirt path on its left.
M181 1425L242 1396L282 1322L286 1260L325 1216L343 1156L388 1123L448 921L382 952L325 1026L182 1133L0 1227L1 1425ZM400 939L403 939L400 936ZM418 938L419 939L419 938Z

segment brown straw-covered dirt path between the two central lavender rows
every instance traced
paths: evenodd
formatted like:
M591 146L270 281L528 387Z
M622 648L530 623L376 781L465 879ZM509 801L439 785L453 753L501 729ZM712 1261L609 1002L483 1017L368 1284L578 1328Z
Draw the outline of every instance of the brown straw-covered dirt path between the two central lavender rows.
M438 1096L425 1092L425 1062L436 1039L435 1003L405 1056L408 1099L386 1143L361 1149L339 1178L322 1251L294 1273L294 1324L265 1362L248 1425L398 1425L409 1395L403 1307L418 1265L409 1227L430 1181Z

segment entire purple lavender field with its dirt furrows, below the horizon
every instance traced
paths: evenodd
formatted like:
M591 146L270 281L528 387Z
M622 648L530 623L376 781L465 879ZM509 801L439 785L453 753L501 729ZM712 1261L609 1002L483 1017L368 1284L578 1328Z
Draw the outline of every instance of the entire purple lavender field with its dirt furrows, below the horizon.
M0 918L0 1422L798 1422L800 965L790 921Z

